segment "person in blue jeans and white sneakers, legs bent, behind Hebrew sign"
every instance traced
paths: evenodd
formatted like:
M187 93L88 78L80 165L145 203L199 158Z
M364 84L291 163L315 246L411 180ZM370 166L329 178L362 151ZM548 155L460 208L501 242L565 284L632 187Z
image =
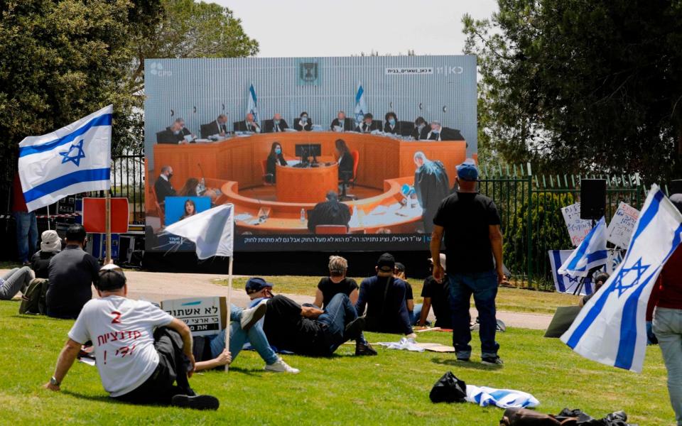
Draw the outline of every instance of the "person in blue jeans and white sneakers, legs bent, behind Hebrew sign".
M298 373L272 350L263 326L259 321L266 312L266 302L261 301L255 307L243 310L231 305L229 311L229 351L225 348L225 333L220 332L204 339L195 338L194 357L197 360L197 371L217 368L225 364L232 364L242 351L244 344L249 342L265 361L264 370L276 373Z

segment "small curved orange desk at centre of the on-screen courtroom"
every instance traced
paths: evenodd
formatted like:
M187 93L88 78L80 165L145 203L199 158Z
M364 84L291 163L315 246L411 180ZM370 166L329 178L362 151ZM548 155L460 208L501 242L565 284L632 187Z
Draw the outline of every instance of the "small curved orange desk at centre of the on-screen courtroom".
M296 168L277 165L278 202L321 202L339 186L339 165Z

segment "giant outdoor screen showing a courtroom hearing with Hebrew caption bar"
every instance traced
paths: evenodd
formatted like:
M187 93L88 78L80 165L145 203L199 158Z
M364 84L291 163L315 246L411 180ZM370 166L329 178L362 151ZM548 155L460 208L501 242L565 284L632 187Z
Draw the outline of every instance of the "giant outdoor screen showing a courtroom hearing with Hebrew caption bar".
M152 59L146 249L234 204L238 251L420 250L477 158L476 58Z

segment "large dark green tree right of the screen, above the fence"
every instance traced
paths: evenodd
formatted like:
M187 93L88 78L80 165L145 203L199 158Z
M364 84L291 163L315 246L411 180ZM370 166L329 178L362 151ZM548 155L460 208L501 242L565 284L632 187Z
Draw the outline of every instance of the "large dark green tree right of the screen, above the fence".
M682 2L498 3L463 18L487 148L548 173L682 173Z

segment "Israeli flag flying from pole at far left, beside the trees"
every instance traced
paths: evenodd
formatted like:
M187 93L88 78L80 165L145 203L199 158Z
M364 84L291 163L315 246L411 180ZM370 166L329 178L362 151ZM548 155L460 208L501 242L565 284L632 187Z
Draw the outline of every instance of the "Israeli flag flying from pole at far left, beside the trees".
M29 212L68 195L109 190L112 105L19 143L19 178Z

